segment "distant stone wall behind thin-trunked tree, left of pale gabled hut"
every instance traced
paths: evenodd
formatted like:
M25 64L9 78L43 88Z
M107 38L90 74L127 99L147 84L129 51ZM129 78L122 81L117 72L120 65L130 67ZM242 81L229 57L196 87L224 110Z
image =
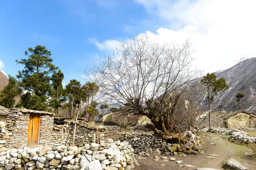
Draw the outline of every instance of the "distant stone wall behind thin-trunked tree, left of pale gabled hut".
M207 119L199 119L195 121L196 129L202 129L204 127L209 127L209 115L207 115ZM211 127L224 127L223 119L218 116L211 115Z

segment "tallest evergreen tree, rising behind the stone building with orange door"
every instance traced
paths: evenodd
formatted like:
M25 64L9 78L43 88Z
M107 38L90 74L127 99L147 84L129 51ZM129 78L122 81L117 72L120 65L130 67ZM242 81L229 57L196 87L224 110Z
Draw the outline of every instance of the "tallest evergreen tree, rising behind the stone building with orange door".
M50 76L58 69L52 64L51 51L45 46L37 45L34 49L28 48L25 56L28 59L15 60L17 64L24 65L22 71L18 71L17 78L26 95L21 97L20 103L24 108L45 111L47 99L51 91Z

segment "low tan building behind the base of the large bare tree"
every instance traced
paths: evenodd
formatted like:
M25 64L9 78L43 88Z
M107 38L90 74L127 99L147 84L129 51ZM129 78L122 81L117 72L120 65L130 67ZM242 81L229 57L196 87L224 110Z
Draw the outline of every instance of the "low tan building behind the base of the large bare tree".
M130 122L132 124L145 125L146 123L151 123L151 120L147 116L131 115L124 113L122 110L116 110L99 116L99 122L115 124Z

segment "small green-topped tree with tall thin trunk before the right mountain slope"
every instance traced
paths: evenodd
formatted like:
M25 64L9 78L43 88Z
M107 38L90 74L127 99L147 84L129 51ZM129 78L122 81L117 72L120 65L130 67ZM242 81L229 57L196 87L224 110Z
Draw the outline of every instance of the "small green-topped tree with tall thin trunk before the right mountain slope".
M207 85L207 99L209 106L209 132L211 131L211 103L214 100L214 96L218 94L218 92L222 90L228 89L228 85L224 78L217 79L214 73L209 74L201 79L201 83Z

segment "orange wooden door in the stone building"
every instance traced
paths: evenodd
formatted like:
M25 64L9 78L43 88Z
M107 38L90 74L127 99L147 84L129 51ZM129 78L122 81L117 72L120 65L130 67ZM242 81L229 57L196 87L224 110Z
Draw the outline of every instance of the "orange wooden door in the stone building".
M41 116L30 115L27 146L39 144Z

